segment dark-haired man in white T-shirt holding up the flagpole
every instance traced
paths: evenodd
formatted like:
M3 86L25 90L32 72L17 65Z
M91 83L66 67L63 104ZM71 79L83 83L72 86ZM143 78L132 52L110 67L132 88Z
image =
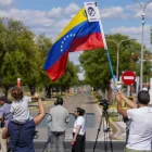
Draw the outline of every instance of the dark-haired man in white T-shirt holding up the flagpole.
M150 102L149 92L145 90L139 91L137 109L129 109L127 111L122 106L122 99L125 100L124 94L116 92L115 98L117 101L117 112L131 121L125 152L151 152L152 107L148 106Z

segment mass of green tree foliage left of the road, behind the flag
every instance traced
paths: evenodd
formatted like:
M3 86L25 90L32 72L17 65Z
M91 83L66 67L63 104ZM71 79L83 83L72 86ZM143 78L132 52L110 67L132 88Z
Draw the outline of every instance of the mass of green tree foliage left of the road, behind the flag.
M55 83L43 72L51 46L51 39L35 36L22 22L0 18L0 84L5 94L10 87L16 86L18 77L33 91L36 87L68 89L78 83L79 69L69 61L64 76Z

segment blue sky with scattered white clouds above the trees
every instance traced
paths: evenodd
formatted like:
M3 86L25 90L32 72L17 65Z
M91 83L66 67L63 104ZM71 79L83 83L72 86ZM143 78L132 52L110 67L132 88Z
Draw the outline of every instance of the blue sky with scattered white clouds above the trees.
M91 0L88 0L91 1ZM147 3L148 0L139 0ZM22 21L36 35L46 34L53 41L84 0L0 0L0 15ZM141 8L135 0L97 0L105 34L121 33L141 41ZM150 45L152 3L145 10L144 43ZM79 53L69 59L78 64Z

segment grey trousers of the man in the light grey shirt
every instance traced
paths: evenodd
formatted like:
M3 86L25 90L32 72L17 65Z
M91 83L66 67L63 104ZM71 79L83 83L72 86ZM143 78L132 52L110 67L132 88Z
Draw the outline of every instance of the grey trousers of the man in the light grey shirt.
M65 152L64 150L65 132L51 132L50 139L52 148L51 152Z

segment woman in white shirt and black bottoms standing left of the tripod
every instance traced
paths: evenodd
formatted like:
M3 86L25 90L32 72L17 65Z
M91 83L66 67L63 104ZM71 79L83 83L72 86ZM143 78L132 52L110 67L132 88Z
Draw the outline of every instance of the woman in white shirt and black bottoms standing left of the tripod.
M75 111L76 121L74 123L73 128L73 148L72 152L84 152L85 151L85 135L86 135L86 126L85 126L85 110L80 107L76 107Z

